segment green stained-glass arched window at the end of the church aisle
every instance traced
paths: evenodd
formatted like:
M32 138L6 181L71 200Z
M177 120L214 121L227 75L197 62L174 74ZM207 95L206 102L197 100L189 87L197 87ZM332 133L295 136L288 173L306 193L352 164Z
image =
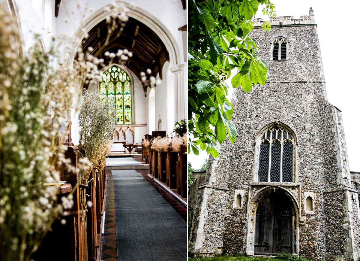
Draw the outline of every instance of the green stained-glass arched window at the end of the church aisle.
M100 93L114 99L116 124L132 124L131 81L124 70L116 65L108 68L100 82Z

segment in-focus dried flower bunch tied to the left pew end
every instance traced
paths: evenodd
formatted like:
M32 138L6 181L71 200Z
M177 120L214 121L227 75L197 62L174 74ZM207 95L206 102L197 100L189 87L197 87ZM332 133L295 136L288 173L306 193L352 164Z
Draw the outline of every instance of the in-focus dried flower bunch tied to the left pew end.
M102 167L100 160L108 143L112 140L115 130L116 108L113 98L103 97L99 92L89 92L84 89L84 102L82 103L80 124L80 146L84 150L85 158L89 159L93 168L97 171ZM81 173L81 184L87 186L91 181L96 186L96 178L90 178L91 168ZM80 191L81 207L87 211L86 190ZM84 222L83 212L81 212Z

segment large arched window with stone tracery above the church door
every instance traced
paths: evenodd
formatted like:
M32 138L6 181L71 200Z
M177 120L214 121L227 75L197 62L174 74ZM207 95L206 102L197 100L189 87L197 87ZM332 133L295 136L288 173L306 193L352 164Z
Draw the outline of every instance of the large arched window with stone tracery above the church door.
M261 134L257 181L293 182L294 138L282 127Z

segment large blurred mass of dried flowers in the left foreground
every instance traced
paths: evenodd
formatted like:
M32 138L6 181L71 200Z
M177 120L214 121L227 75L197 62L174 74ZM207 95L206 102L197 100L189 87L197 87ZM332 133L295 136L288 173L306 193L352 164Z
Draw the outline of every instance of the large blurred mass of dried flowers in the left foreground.
M51 68L53 49L45 54L36 45L17 54L16 23L1 8L0 21L0 252L1 260L29 260L53 221L73 205L72 195L57 203L53 165L68 163L66 147L57 146L64 141L59 129L86 76L75 67Z

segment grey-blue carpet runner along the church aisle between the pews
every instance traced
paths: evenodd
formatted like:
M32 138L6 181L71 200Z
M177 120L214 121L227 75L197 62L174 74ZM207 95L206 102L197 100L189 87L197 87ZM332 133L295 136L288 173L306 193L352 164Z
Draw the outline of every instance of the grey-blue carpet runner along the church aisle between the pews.
M186 222L135 170L112 170L117 257L186 260Z

